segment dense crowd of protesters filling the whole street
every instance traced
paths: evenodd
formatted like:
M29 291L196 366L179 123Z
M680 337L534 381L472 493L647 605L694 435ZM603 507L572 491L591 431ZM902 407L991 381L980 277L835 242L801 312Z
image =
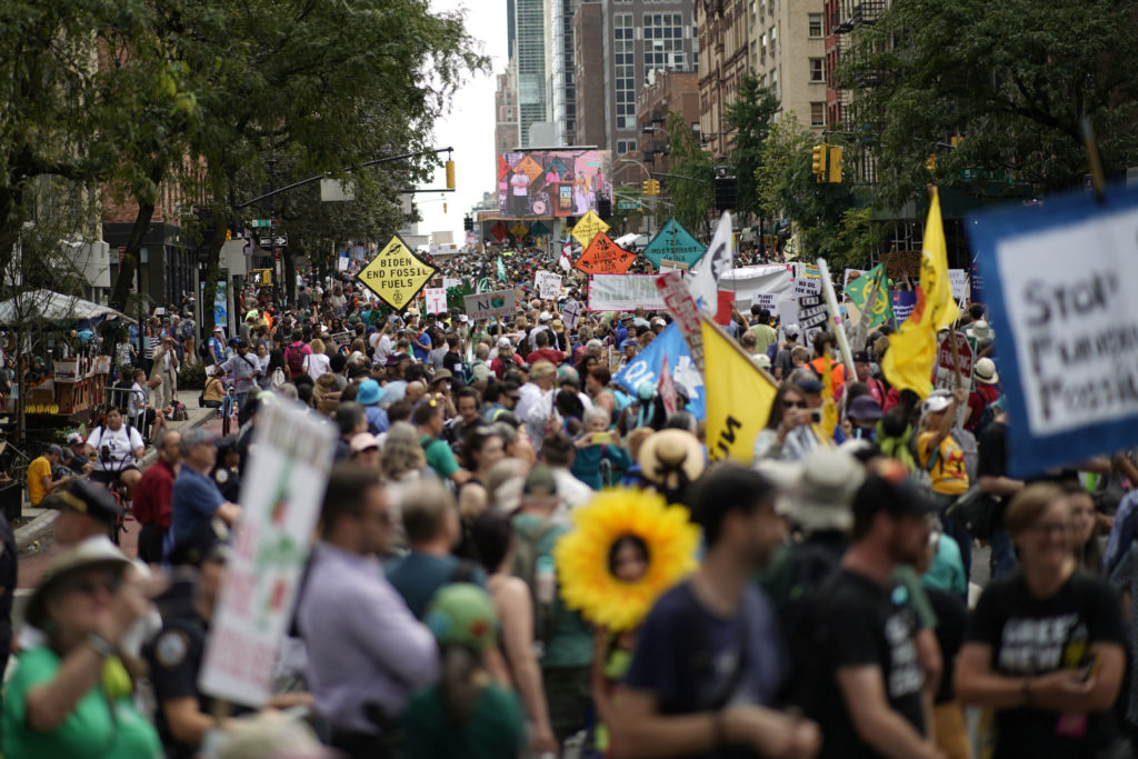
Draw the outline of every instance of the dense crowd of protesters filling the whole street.
M959 324L972 382L926 397L882 374L888 325L848 374L832 335L736 310L726 330L777 383L742 465L708 460L683 387L670 407L613 381L667 313L569 322L585 282L533 297L541 266L510 257L527 284L506 317L393 312L344 275L250 300L199 349L163 337L142 383L201 362L203 403L229 386L239 431L159 430L157 463L113 468L141 452L112 409L74 442L90 477L55 476L63 448L33 462L65 550L17 638L5 756L1132 756L1138 469L1120 452L1008 477L981 305ZM336 462L290 655L251 713L197 675L241 487L269 486L245 481L266 404L335 426ZM134 561L107 539L109 479L130 480ZM659 518L619 522L645 494ZM694 537L663 529L671 506ZM589 531L607 519L630 526ZM588 539L610 605L660 586L644 613L569 589Z

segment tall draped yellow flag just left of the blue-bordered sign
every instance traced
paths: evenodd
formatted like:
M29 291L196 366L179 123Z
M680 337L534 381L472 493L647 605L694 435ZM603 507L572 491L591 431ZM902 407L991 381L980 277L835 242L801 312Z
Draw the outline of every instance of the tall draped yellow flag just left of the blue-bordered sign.
M960 315L948 281L948 249L945 225L940 220L940 195L935 189L922 247L917 305L897 333L889 338L889 350L881 362L881 370L897 389L909 389L924 398L932 388L937 332Z

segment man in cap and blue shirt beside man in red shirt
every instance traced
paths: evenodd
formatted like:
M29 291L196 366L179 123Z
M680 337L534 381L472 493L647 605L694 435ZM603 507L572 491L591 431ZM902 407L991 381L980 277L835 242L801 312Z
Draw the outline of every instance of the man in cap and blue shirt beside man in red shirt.
M214 443L217 435L203 429L182 432L182 465L174 479L171 495L171 528L166 535L166 547L173 547L181 536L189 535L198 525L218 518L226 525L234 525L241 515L241 508L226 501L209 478L217 461Z

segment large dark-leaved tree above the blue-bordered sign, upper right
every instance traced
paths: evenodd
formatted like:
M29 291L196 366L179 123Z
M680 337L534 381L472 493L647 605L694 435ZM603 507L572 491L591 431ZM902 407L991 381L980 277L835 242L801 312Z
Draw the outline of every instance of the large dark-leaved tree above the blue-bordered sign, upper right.
M838 77L853 93L847 129L880 162L876 205L900 207L930 180L987 196L1075 187L1083 116L1119 176L1138 159L1136 34L1129 0L897 0Z

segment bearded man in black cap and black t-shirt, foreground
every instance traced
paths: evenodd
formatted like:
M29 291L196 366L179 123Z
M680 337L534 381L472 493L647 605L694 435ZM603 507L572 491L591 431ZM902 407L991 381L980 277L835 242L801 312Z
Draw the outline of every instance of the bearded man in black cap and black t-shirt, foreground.
M852 513L852 543L816 596L817 675L805 706L825 727L818 756L935 759L920 622L894 575L922 559L935 506L904 464L887 460L858 487Z

